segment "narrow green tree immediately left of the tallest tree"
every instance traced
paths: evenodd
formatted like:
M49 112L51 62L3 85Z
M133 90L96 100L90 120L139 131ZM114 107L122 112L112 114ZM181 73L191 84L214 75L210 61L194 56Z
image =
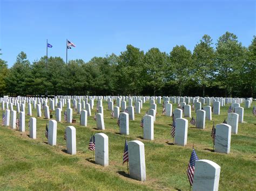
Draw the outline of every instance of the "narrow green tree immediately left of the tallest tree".
M200 87L203 88L203 97L205 96L205 88L211 85L213 80L213 62L214 49L212 47L212 39L205 34L200 43L194 47L193 51L193 78Z

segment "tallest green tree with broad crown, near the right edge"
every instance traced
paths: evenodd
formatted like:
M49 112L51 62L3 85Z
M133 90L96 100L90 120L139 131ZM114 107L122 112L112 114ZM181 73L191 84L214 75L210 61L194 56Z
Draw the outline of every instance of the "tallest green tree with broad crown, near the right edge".
M241 80L239 75L245 61L245 48L238 43L235 34L226 32L216 44L215 72L220 88L225 88L225 97L232 96L233 87Z

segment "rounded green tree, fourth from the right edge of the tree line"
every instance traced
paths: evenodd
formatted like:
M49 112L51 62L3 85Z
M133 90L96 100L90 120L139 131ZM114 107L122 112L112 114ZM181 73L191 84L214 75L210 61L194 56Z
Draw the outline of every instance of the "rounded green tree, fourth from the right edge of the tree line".
M173 47L170 53L170 60L170 70L173 69L173 74L169 78L174 79L174 82L178 85L178 94L181 96L185 84L191 79L192 54L184 45L177 45Z

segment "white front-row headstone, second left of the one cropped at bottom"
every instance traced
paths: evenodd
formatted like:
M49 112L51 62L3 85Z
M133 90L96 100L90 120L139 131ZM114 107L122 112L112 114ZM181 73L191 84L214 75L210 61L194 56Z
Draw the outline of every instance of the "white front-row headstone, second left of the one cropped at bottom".
M109 166L109 137L104 133L95 134L95 163Z

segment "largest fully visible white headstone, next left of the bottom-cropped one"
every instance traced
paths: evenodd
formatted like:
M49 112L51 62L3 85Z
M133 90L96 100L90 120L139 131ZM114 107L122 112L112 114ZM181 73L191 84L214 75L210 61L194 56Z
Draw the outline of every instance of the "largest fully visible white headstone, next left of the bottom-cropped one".
M130 176L139 181L146 181L144 144L139 140L128 142Z

